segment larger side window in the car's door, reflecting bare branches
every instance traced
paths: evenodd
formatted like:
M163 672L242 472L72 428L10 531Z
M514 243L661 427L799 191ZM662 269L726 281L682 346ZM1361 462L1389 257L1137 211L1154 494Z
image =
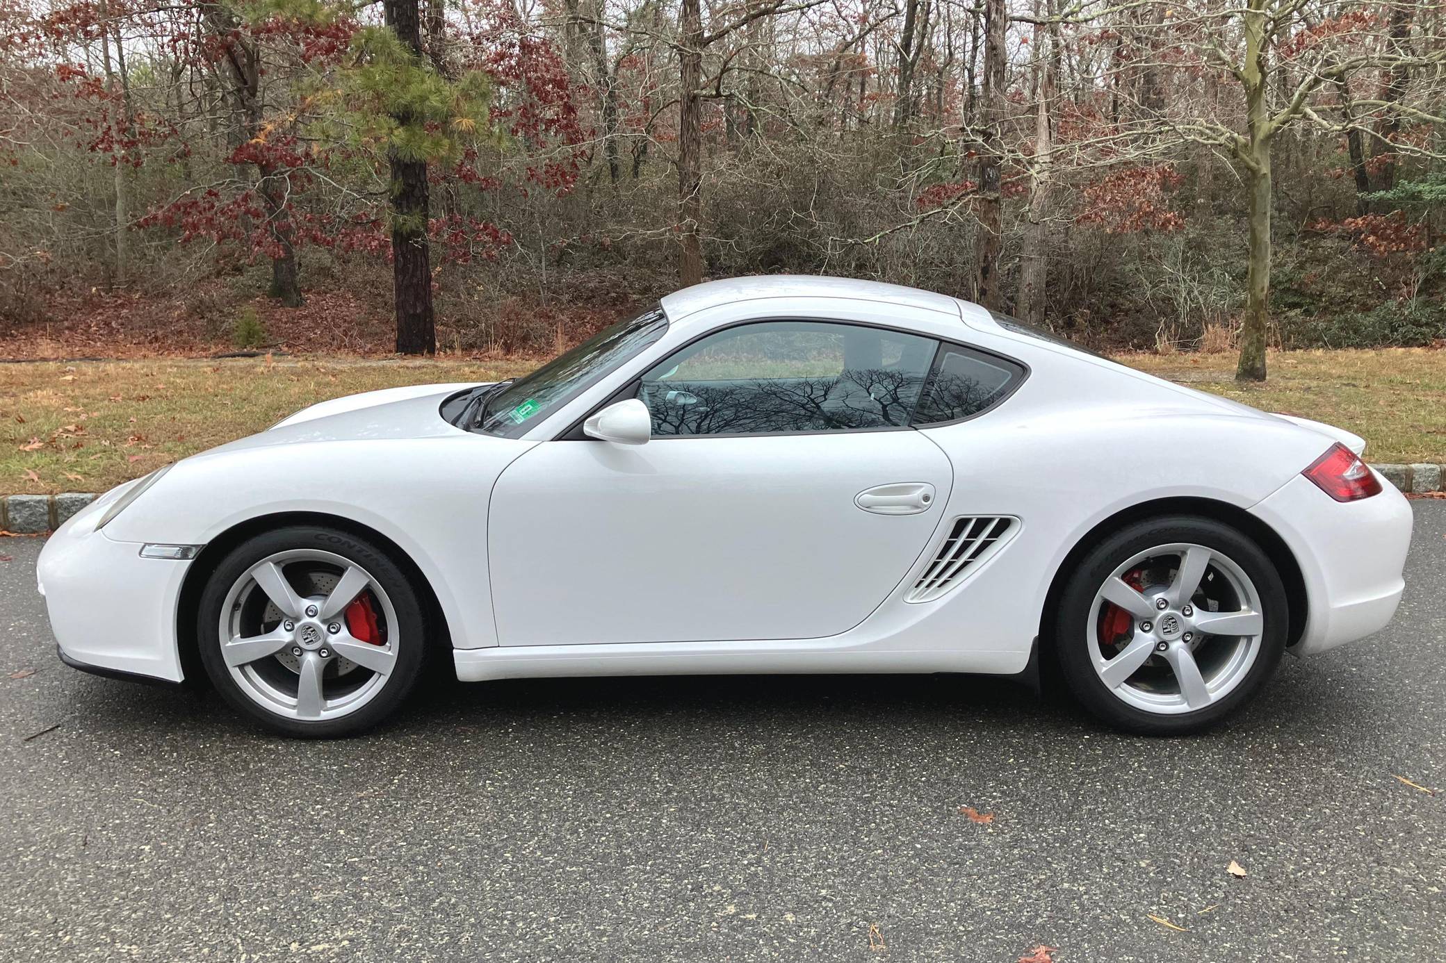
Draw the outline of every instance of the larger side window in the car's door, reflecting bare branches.
M938 343L826 321L711 334L642 376L654 435L902 428Z

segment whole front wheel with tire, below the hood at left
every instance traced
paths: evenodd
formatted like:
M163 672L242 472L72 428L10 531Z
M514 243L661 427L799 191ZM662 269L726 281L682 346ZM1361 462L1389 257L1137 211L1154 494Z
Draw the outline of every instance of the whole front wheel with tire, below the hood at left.
M289 736L347 736L389 716L416 682L425 626L386 552L320 526L247 539L213 573L201 662L240 711Z

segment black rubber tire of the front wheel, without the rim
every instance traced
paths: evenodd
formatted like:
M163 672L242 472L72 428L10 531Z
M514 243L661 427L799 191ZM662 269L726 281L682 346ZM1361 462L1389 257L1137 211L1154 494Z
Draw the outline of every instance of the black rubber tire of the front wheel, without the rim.
M396 661L380 691L350 714L335 719L291 719L249 697L221 656L221 609L231 586L256 562L292 549L320 549L366 568L390 600L396 615ZM348 532L317 525L294 525L246 539L211 573L197 616L201 664L217 691L237 711L270 732L302 739L354 736L388 719L411 694L427 658L427 619L416 590L398 564L372 542Z

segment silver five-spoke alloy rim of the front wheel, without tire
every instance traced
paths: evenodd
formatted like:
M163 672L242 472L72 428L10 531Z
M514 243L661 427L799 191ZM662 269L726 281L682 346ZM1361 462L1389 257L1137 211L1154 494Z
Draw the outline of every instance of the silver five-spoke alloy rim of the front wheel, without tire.
M320 574L333 587L302 596L288 574L312 584ZM380 607L382 645L347 628L346 609L363 593ZM335 552L295 548L268 555L231 584L221 606L221 659L247 698L268 711L304 722L338 719L386 685L396 667L396 626L392 600L362 565Z

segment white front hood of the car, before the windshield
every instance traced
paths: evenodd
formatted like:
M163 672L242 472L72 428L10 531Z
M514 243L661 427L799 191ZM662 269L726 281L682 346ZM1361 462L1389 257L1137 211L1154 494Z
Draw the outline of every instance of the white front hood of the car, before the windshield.
M469 388L473 385L411 385L335 398L302 408L266 431L249 438L239 438L211 451L240 451L318 441L463 435L467 432L442 421L438 409L450 395Z

